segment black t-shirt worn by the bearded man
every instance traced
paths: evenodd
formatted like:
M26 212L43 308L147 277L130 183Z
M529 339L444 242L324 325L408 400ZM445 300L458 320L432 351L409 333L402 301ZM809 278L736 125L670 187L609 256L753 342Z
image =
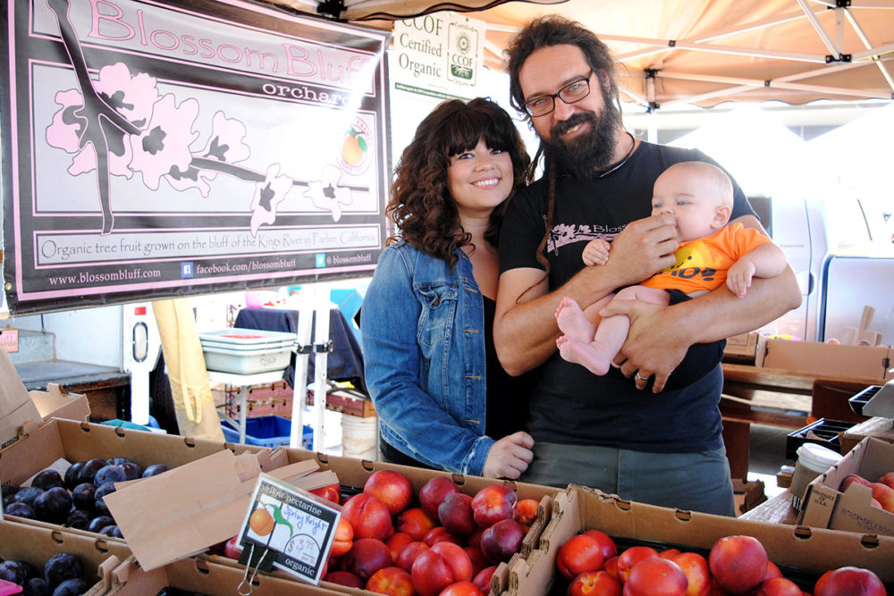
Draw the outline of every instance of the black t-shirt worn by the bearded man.
M573 277L584 263L586 243L614 239L628 222L652 212L654 181L683 161L716 164L697 150L642 143L627 164L604 178L556 180L552 233L544 248L550 263L550 290ZM732 219L753 214L745 194L733 184ZM542 269L536 248L544 234L547 180L512 199L500 232L501 273L518 267ZM654 394L611 369L604 376L562 360L556 351L536 369L530 395L528 431L535 441L596 444L653 452L695 452L722 446L718 408L719 365L681 390Z

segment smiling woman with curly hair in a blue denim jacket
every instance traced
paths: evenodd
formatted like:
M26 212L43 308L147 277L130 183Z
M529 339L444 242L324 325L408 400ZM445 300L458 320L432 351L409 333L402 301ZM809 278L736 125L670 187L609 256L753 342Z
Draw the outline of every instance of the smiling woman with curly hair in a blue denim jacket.
M438 105L401 155L386 210L398 231L361 322L385 461L518 478L533 457L526 388L492 340L497 235L529 163L509 114L483 98Z

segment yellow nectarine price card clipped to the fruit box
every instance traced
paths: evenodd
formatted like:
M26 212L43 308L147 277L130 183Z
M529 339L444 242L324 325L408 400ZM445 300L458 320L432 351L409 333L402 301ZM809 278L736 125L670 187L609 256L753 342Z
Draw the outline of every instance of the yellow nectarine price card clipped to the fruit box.
M239 562L318 584L341 516L332 502L260 474L239 533Z

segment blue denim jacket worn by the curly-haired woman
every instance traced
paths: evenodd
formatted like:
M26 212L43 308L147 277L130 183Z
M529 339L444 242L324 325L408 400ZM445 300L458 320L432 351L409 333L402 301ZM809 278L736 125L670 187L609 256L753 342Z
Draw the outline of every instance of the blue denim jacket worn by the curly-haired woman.
M451 270L400 241L385 248L363 300L364 382L382 438L429 466L481 475L484 302L468 256Z

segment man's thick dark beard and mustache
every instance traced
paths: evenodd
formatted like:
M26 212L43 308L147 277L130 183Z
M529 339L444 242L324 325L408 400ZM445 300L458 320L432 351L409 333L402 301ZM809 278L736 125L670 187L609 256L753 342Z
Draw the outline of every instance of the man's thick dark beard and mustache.
M578 112L550 130L550 140L541 139L544 153L555 159L561 171L570 172L576 178L595 178L600 171L611 165L617 135L618 108L605 103L603 113ZM578 124L589 122L592 133L566 141L561 134Z

